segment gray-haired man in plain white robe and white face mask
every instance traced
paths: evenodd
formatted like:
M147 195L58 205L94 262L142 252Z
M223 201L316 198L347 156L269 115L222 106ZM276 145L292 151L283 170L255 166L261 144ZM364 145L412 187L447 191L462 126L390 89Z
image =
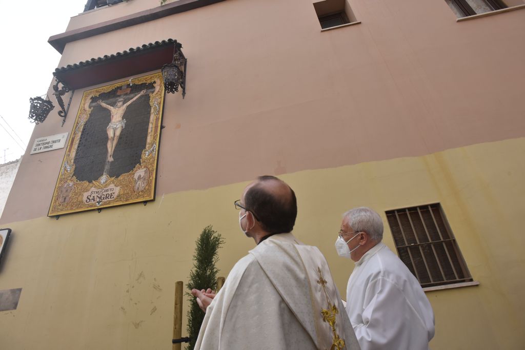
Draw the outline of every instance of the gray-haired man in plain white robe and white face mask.
M434 312L421 285L386 247L383 221L370 208L343 215L338 254L355 262L346 286L346 313L363 350L428 349Z

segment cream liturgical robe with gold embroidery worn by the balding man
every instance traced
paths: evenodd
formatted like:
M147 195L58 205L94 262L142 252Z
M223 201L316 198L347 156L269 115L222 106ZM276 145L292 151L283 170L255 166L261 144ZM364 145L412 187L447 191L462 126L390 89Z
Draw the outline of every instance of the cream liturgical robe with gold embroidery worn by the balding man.
M208 306L195 349L359 349L316 247L291 234L240 259Z

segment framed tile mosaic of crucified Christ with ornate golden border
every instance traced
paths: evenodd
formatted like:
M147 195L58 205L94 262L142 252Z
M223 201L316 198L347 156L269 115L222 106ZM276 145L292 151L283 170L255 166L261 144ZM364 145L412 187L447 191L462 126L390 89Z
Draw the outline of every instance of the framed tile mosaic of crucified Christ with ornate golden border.
M155 198L161 73L83 93L49 216Z

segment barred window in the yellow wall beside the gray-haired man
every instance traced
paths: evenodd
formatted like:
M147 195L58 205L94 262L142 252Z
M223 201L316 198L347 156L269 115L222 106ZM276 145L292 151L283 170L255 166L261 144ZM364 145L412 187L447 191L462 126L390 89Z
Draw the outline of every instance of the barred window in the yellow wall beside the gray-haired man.
M397 254L421 287L472 277L439 203L386 211Z

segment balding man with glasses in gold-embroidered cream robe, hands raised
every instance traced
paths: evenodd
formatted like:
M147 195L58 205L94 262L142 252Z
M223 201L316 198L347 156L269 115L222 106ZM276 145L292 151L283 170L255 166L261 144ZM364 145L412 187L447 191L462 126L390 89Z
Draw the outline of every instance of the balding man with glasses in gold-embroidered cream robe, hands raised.
M192 291L206 312L195 349L359 349L326 260L290 233L293 190L260 176L235 207L241 231L257 247L219 293Z

